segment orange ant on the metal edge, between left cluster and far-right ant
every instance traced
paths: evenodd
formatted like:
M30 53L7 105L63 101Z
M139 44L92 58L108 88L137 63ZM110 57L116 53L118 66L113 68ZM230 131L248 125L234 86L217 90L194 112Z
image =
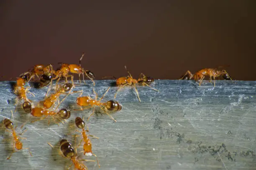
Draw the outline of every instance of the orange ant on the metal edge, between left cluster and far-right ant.
M156 90L155 88L153 88L149 85L149 84L151 84L151 82L154 82L154 78L146 77L143 73L141 73L142 77L140 75L140 78L138 80L136 80L132 77L131 73L127 70L126 65L125 65L125 70L128 72L129 75L127 77L119 77L118 79L116 79L116 85L118 85L119 88L118 88L117 92L115 93L114 98L116 98L117 93L125 85L132 85L135 89L135 92L136 92L137 96L138 96L138 100L141 102L141 99L139 97L138 90L137 90L137 87L136 87L136 84L139 84L139 83L142 83L143 85L146 85L146 86L150 87L151 89L159 92L159 90Z

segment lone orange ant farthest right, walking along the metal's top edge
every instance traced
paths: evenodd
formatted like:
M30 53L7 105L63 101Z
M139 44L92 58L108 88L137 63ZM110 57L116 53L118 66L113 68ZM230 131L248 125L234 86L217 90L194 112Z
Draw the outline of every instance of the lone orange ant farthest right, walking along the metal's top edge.
M184 77L186 77L189 80L194 78L194 80L199 81L199 86L200 86L202 83L202 80L205 78L205 76L209 76L210 82L212 82L212 77L213 77L214 87L215 87L215 77L219 77L220 75L223 75L223 78L226 80L227 79L232 80L226 70L217 70L214 68L204 68L202 70L195 72L194 75L189 70L187 70L187 72L184 74L184 76L182 76L179 80L184 79Z

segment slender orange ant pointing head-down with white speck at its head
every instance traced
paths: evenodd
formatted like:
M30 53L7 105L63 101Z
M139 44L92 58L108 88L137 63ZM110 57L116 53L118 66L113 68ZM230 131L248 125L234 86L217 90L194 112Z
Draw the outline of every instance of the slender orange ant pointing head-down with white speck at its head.
M98 163L98 166L100 168L100 164L99 164L99 161L97 159L97 156L94 153L92 153L92 143L91 143L90 139L88 138L88 136L86 134L86 132L89 132L88 127L87 127L87 130L84 130L85 123L81 119L81 117L76 117L75 124L76 124L77 128L82 129L82 132L78 131L79 133L82 133L82 137L83 137L82 140L80 141L80 144L78 145L78 147L81 145L82 141L84 141L84 147L83 147L84 148L84 155L86 155L86 156L92 156L92 155L95 156L96 160L97 160L97 163ZM97 138L93 135L89 135L89 136Z

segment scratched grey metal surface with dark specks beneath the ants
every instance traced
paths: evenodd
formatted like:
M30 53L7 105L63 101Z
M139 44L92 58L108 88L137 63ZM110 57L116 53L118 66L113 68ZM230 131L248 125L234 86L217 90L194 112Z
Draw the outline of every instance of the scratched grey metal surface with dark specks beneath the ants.
M99 97L113 80L96 81ZM156 80L149 87L138 87L141 102L132 88L124 88L117 100L123 109L113 113L117 122L108 115L97 112L87 125L93 151L100 161L100 170L255 170L256 169L256 82L216 81L216 87L204 82L201 87L188 80ZM92 85L77 85L83 95L94 96ZM30 90L44 99L46 88ZM103 101L114 97L116 87L111 87ZM15 95L10 82L0 82L0 121L10 118L15 108ZM62 170L71 163L58 153L58 143L66 138L74 143L74 117L89 116L91 109L78 109L75 100L78 93L67 97L62 107L68 107L72 116L65 124L47 120L27 123L23 134L23 147L29 147L9 156L12 145L8 132L1 131L0 167L2 170ZM62 98L62 97L60 97ZM36 103L36 102L35 102ZM18 106L13 123L20 125L33 119ZM80 138L79 138L80 139ZM47 143L55 146L52 149ZM78 151L82 150L82 146ZM81 153L79 152L79 155ZM81 158L84 158L82 155ZM95 160L94 157L84 158ZM89 170L99 169L97 163L85 163Z

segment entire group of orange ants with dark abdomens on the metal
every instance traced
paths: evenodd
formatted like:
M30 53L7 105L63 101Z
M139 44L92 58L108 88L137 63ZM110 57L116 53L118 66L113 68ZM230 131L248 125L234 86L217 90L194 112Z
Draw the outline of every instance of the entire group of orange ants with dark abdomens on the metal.
M38 120L44 120L46 118L51 118L56 124L59 125L59 122L64 123L64 121L67 121L67 119L70 117L70 110L67 108L62 108L58 110L61 102L63 102L68 95L71 93L76 93L76 92L81 92L79 97L77 97L77 105L80 107L80 110L83 110L84 107L86 108L93 108L92 113L88 117L87 121L90 119L90 117L95 113L95 107L99 107L105 114L107 114L112 120L117 122L111 115L111 112L117 112L122 109L122 105L118 101L114 100L109 100L107 102L101 102L103 97L106 95L106 93L110 90L110 87L106 90L106 92L102 95L102 97L98 100L98 95L93 89L93 92L95 94L95 98L93 99L90 96L82 96L82 91L74 91L74 76L73 74L78 74L79 75L79 82L81 83L80 80L80 75L83 77L84 80L84 75L88 77L92 82L93 85L95 86L95 74L91 72L90 70L84 70L81 66L81 60L84 56L84 53L82 54L82 57L79 60L79 65L77 64L66 64L66 63L61 63L61 67L57 70L53 69L52 64L49 65L35 65L32 70L29 70L28 72L24 72L21 74L16 81L15 85L15 94L17 95L17 106L20 102L20 100L23 101L22 108L25 112L31 113L33 117L38 117L36 120L32 120L31 123L38 121ZM125 66L125 70L127 70ZM143 73L139 76L138 79L134 79L131 75L131 73L127 70L128 76L127 77L119 77L115 78L116 79L116 85L118 86L118 90L115 93L114 98L116 98L117 93L125 86L131 86L135 89L136 95L138 97L138 100L141 101L138 90L136 85L146 85L150 87L151 89L156 90L155 88L151 87L150 84L154 82L154 78L152 77L147 77ZM72 73L72 75L70 74ZM181 77L182 80L191 80L192 78L196 81L199 81L199 85L201 85L202 80L205 78L205 76L210 77L210 81L212 81L212 77L214 80L214 86L215 86L215 78L219 77L220 75L223 76L225 80L232 80L230 75L225 71L225 70L217 70L217 69L202 69L195 74L192 74L189 70L185 73L184 76ZM113 76L112 76L113 77ZM65 82L61 84L59 80L61 78L65 79ZM68 78L71 78L71 83L68 82ZM36 80L38 79L38 80ZM34 96L32 92L29 91L31 88L29 82L33 80L35 83L34 87L37 88L42 88L46 87L49 85L49 88L46 92L46 96L43 101L38 102L37 106L34 107L33 101L28 99L27 94L31 93L31 95ZM35 81L36 80L36 81ZM52 93L51 95L48 95L48 93L51 91L52 88L52 82L53 80L56 80L56 86L55 86L55 92ZM27 82L28 87L25 87ZM61 101L59 101L59 97L61 95L66 95ZM52 108L54 107L55 103L58 102L58 105L55 107L54 110ZM41 104L41 105L40 105ZM15 107L15 111L16 108ZM13 112L12 112L13 115ZM50 124L50 119L48 120ZM32 156L29 148L23 148L23 144L20 141L21 138L19 135L22 134L17 134L15 129L17 126L14 128L13 122L11 122L10 119L4 119L3 120L3 125L7 129L8 132L10 132L13 135L13 152L10 154L10 156L7 159L10 159L12 154L16 152L16 150L22 150L22 149L27 149ZM23 124L24 125L24 124ZM22 125L22 127L23 127ZM75 119L75 125L77 128L81 129L80 131L77 130L82 136L82 140L80 141L78 146L73 147L72 144L66 140L62 139L59 143L59 150L61 151L61 155L65 158L69 158L72 163L74 164L75 169L77 170L87 170L87 167L81 163L81 161L95 161L95 160L78 160L77 156L77 148L81 145L82 142L84 142L83 145L83 153L86 156L95 156L97 160L97 156L92 152L92 143L90 141L89 136L92 135L87 135L87 132L89 132L88 127L85 130L85 122L81 117L76 117ZM21 127L21 128L22 128ZM24 133L24 132L23 132ZM77 137L77 135L75 135ZM92 136L94 138L97 138L95 136ZM52 148L53 146L48 143ZM99 161L97 160L97 164L100 167ZM70 166L71 167L71 166ZM69 168L70 168L69 167ZM69 169L68 168L68 169Z

